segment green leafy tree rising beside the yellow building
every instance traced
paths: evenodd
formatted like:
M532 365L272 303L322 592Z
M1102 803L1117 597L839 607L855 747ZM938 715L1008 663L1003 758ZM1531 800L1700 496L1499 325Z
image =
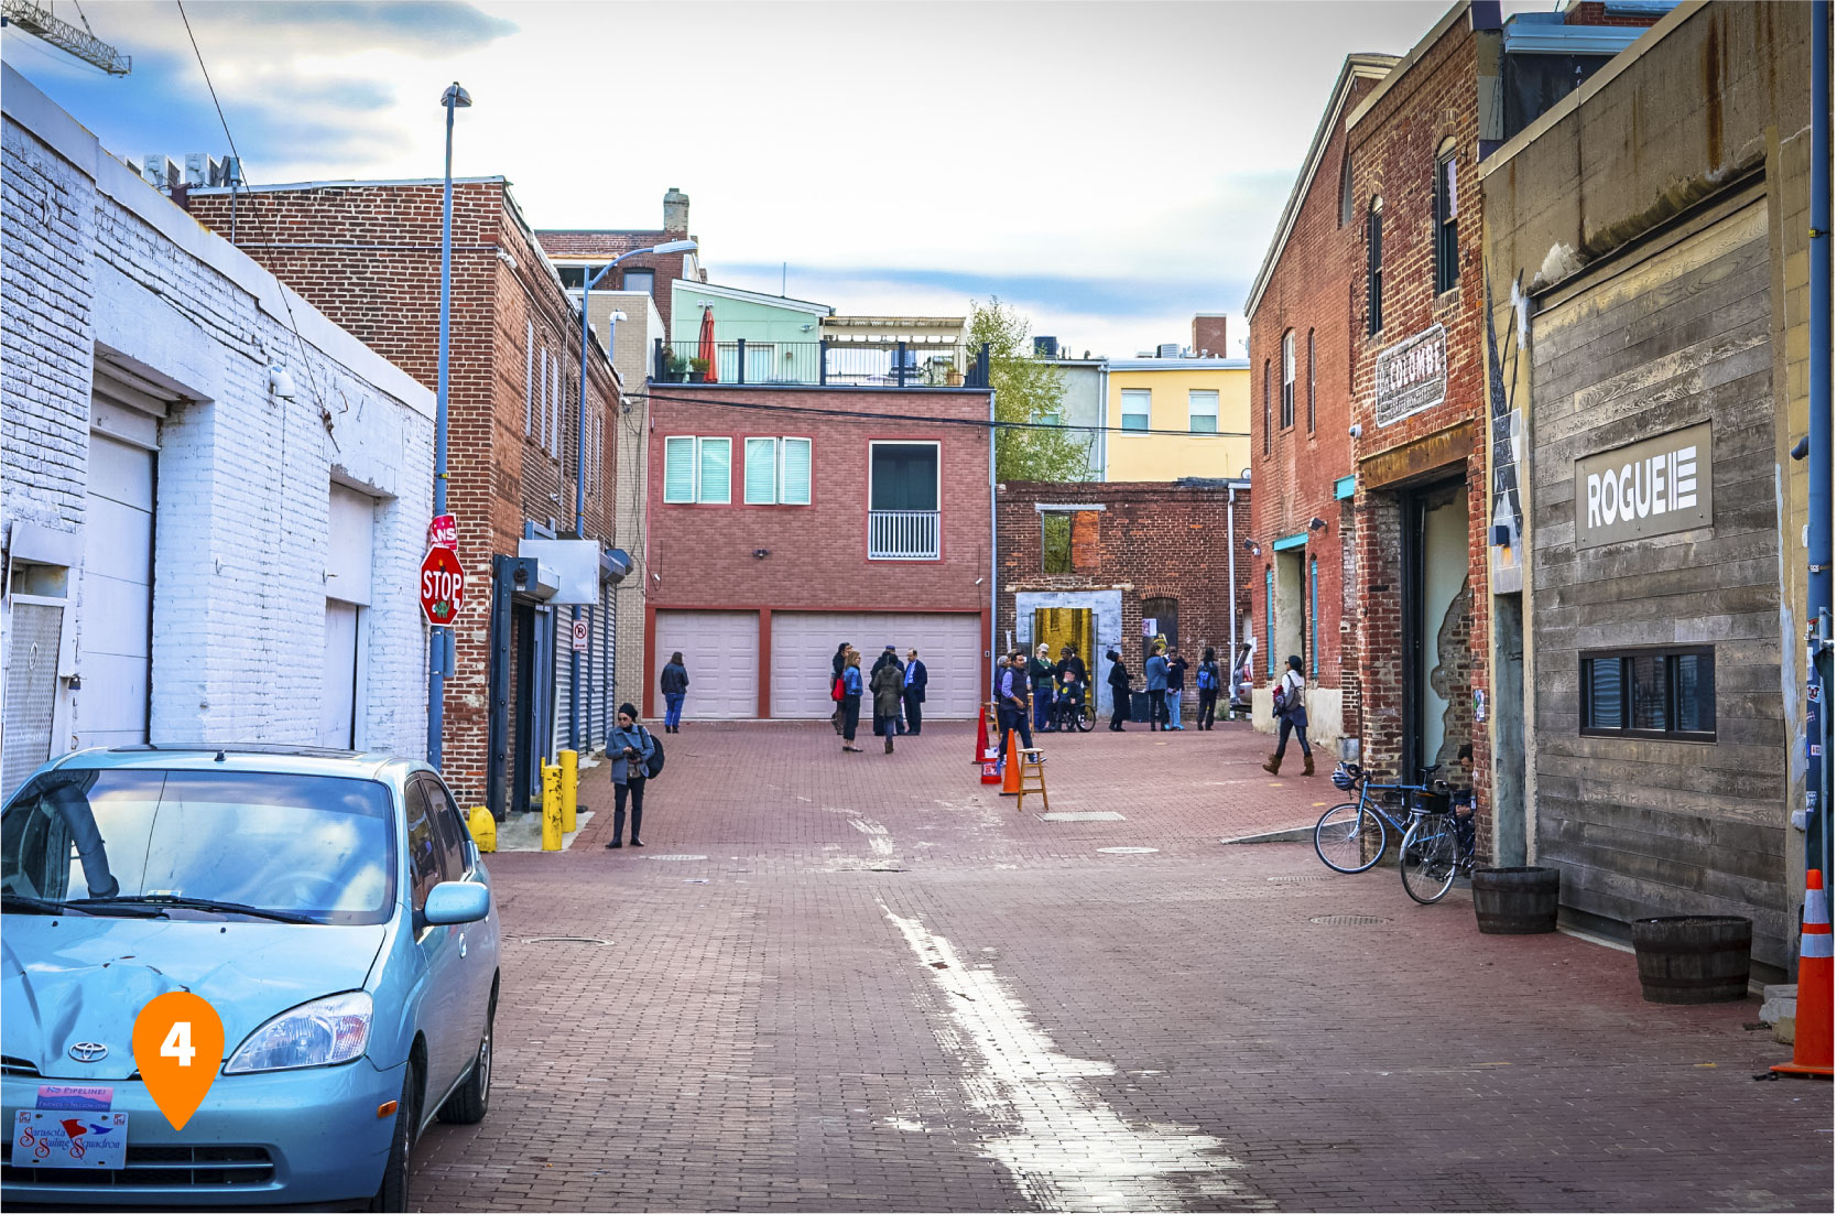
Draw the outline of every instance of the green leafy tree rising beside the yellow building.
M988 386L996 419L1051 425L1065 395L1065 373L1032 355L1032 320L990 296L970 303L970 351L988 346ZM1082 480L1091 461L1089 430L996 430L996 480Z

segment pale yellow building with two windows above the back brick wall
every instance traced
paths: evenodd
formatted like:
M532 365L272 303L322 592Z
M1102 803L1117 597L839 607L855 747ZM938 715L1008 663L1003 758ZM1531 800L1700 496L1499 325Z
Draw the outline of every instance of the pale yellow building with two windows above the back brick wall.
M1242 357L1106 362L1104 480L1249 476L1251 364Z

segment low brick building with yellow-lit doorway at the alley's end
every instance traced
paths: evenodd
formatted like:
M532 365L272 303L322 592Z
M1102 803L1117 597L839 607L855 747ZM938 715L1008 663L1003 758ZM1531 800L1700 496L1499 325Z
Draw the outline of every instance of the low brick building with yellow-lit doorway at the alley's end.
M1054 660L1058 647L1076 643L1102 719L1111 711L1108 651L1122 654L1137 687L1155 640L1194 669L1214 647L1229 669L1255 568L1244 535L1247 494L1242 480L997 485L997 643L1045 641ZM1187 702L1196 704L1196 693Z

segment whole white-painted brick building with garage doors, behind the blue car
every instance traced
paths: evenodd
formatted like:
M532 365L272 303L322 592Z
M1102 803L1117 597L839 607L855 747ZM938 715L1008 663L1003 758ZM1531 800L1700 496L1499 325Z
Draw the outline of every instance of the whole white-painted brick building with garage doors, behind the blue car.
M421 755L434 393L4 77L0 792L97 744Z

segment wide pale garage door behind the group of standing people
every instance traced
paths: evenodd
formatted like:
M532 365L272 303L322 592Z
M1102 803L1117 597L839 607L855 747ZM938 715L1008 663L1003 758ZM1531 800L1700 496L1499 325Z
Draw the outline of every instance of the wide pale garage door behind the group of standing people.
M983 618L918 612L779 612L772 618L772 717L827 719L830 660L852 641L873 667L893 643L917 647L926 665L928 719L970 719L983 704Z

